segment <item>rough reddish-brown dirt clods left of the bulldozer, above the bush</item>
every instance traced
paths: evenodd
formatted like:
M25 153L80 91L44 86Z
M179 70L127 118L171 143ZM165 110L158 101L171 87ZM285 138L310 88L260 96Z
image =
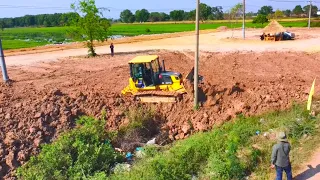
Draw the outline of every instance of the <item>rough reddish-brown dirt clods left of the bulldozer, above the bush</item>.
M34 91L37 98L10 99L10 87L2 87L2 108L0 118L0 176L11 173L18 166L39 152L42 143L50 143L62 132L74 127L75 119L81 115L101 115L107 112L107 119L113 119L110 127L117 127L116 119L122 114L114 107L123 103L117 97L99 93L82 94L71 97L60 90ZM14 102L12 105L9 102ZM109 105L107 105L109 104ZM111 112L112 111L112 112ZM10 176L9 174L9 176ZM8 178L8 176L5 176Z

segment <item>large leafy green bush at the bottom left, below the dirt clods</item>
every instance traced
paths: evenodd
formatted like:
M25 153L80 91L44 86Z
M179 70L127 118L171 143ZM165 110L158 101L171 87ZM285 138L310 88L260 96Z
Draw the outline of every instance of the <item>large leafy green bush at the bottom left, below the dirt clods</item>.
M82 179L104 177L116 162L122 162L106 140L104 121L81 117L78 127L42 147L18 169L22 179Z

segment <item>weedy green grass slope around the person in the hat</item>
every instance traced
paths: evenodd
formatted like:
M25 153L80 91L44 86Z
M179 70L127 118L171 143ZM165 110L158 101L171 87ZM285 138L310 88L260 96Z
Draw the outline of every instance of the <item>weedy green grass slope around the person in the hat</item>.
M301 106L285 112L273 112L258 117L243 117L215 127L211 132L198 133L178 141L172 147L153 153L137 161L130 172L112 175L110 179L270 179L269 170L272 145L256 131L270 133L286 131L292 143L294 168L301 164L302 154L310 155L308 149L315 143L305 141L304 134L319 135L316 124L319 119L310 119ZM302 144L301 144L302 143ZM314 148L315 149L315 148ZM304 153L301 153L304 152Z

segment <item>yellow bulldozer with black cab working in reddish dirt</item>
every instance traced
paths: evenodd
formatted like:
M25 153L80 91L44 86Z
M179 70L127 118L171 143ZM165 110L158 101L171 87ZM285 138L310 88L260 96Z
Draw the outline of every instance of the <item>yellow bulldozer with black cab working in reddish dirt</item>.
M137 56L129 61L129 85L123 95L134 96L136 100L148 103L176 102L186 93L181 73L167 71L158 55ZM185 78L193 79L193 70Z

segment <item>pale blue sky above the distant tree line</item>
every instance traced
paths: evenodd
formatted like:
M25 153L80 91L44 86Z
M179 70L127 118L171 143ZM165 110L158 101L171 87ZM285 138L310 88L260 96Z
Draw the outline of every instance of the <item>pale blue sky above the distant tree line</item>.
M286 1L286 0L282 0ZM289 0L287 0L289 1ZM299 0L291 0L299 1ZM302 0L303 1L303 0ZM70 4L75 0L0 0L0 18L19 17L24 15L51 14L70 12ZM223 10L230 9L242 0L201 0L210 6L222 6ZM150 12L170 12L175 9L190 11L195 9L196 0L96 0L98 7L107 7L105 17L118 19L124 9L135 12L145 8ZM256 12L263 5L271 5L274 10L293 9L295 5L307 5L305 2L273 2L272 0L246 0L247 11ZM320 0L316 5L320 8Z

